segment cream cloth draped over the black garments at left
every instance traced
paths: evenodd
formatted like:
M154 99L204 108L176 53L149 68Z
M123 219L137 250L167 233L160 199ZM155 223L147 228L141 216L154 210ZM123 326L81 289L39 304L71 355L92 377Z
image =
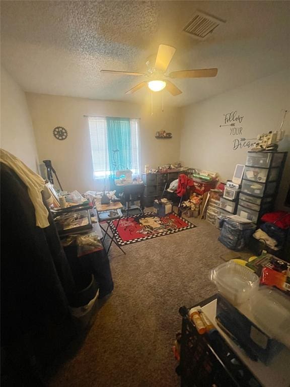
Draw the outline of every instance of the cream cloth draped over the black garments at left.
M40 228L49 226L48 211L43 204L41 196L45 181L16 156L4 149L0 151L0 161L9 166L28 188L28 195L35 209L36 226Z

